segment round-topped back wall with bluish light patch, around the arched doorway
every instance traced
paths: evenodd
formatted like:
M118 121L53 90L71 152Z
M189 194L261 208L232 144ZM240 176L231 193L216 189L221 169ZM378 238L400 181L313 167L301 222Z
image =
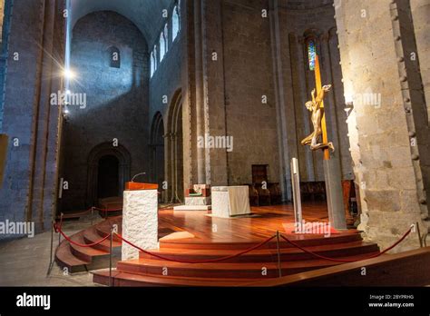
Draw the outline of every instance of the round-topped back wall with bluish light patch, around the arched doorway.
M111 67L112 47L120 52L120 68ZM69 190L63 194L63 211L82 210L95 202L91 194L94 181L90 178L96 174L92 168L97 168L97 162L89 159L90 153L93 159L102 153L94 153L94 148L118 154L125 164L130 155L131 165L120 166L122 185L133 174L147 171L148 58L141 32L122 15L96 12L85 15L74 26L71 68L77 78L70 90L86 95L86 106L69 106L64 122L62 177L69 183Z

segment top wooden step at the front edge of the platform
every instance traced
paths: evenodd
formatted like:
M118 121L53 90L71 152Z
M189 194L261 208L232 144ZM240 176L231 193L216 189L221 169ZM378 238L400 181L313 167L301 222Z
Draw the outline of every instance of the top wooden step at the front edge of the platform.
M326 244L321 246L306 247L311 252L316 252L320 255L327 256L329 258L336 258L339 256L347 255L359 255L369 252L378 252L378 247L375 243L368 242L346 242L346 243L334 243ZM178 261L204 261L211 259L218 259L227 257L238 253L238 250L195 250L195 249L179 249L179 248L168 248L161 250L151 251L154 254L159 254L163 257ZM315 259L315 256L302 252L298 248L281 248L280 249L282 261L300 261ZM158 258L140 252L140 258L157 260ZM248 252L220 263L227 262L277 262L278 252L276 249L257 249L252 252Z

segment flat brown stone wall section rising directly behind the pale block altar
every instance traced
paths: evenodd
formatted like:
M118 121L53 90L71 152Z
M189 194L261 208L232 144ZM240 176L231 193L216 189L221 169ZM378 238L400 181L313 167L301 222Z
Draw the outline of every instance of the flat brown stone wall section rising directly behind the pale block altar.
M234 137L234 149L227 153L232 185L252 183L252 164L269 164L269 182L279 183L270 25L263 8L267 1L222 5L226 131Z

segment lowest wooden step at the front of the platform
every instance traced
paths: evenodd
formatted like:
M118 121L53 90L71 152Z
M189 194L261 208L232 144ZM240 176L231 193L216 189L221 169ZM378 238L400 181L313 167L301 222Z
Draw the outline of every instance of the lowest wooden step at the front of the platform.
M96 271L93 273L93 282L103 285L109 285L109 270ZM255 280L247 279L205 279L205 278L172 278L172 277L156 277L151 275L130 274L126 272L112 272L113 286L127 287L232 287L245 286Z

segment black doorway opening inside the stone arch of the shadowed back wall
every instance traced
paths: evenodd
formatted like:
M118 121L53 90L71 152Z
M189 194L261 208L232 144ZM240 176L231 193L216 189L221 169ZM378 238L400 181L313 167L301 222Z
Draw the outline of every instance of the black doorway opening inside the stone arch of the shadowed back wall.
M120 196L120 162L113 155L100 158L97 177L97 198Z

